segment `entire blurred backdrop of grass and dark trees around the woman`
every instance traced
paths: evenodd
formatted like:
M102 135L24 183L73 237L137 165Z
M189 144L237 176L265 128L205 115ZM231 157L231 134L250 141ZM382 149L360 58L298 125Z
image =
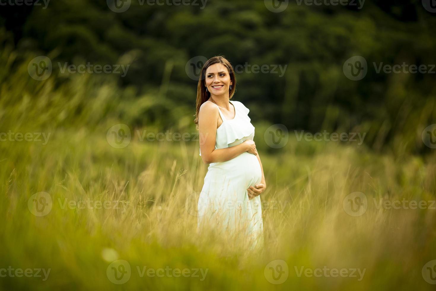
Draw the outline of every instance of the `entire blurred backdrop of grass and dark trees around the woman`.
M0 268L51 273L45 281L2 276L0 288L431 290L434 1L159 3L1 2L0 133L10 134L0 136ZM215 55L243 68L233 98L250 110L268 185L261 254L244 254L243 240L194 232L207 171L195 138L196 89ZM426 72L378 72L403 63ZM74 71L87 64L90 71ZM144 139L166 132L189 139ZM33 195L41 192L50 211L37 216ZM355 192L367 201L358 216L346 206ZM79 208L86 199L123 206ZM403 200L427 206L379 206ZM131 266L123 284L109 274L117 260ZM136 266L208 274L140 277ZM299 277L302 266L366 273L360 281Z

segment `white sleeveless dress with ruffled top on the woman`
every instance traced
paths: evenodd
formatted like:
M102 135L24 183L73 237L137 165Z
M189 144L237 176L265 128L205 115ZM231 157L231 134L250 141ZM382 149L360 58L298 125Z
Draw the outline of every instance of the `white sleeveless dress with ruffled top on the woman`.
M216 132L215 149L233 147L254 137L249 109L239 101L229 102L235 107L235 117L226 119L218 107L223 123ZM247 192L247 188L261 180L262 169L257 156L248 152L229 161L209 164L198 199L198 229L212 227L235 235L245 241L249 249L262 247L260 195L249 199Z

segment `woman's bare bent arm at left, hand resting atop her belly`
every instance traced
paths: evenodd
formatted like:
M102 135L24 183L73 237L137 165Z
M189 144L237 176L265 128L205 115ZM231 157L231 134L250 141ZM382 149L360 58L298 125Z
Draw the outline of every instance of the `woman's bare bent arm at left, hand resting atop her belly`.
M218 115L218 108L213 103L206 102L200 107L198 129L201 159L204 164L229 161L246 151L257 154L252 140L246 140L234 147L215 149Z

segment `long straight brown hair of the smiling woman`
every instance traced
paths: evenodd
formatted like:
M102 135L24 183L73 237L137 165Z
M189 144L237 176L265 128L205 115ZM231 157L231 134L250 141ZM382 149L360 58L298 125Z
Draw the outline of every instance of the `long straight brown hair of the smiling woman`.
M213 58L209 58L207 62L204 63L203 68L201 68L201 74L200 79L198 79L198 85L197 85L197 101L196 101L196 111L195 111L195 119L194 123L196 124L196 127L198 129L198 113L200 112L200 106L206 102L209 97L211 96L211 93L206 91L206 70L214 64L223 64L228 69L228 73L230 74L230 81L232 81L232 89L228 92L228 99L232 99L233 94L235 94L236 89L236 76L235 71L233 70L232 64L221 55L215 56Z

